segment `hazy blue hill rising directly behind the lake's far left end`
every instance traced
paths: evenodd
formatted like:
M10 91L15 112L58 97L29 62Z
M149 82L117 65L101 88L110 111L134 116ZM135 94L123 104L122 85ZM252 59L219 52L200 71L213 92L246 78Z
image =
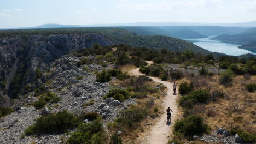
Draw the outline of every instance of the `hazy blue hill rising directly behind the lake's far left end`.
M174 37L178 39L193 39L193 38L206 38L205 35L191 31L188 29L171 29L165 31L161 27L119 27L124 28L128 31L135 32L139 35L149 36L149 35L165 35L169 37Z

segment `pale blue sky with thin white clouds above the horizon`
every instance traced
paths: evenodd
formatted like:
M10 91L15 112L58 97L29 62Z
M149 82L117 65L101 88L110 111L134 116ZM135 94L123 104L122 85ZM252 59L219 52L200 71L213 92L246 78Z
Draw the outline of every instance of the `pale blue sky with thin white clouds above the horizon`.
M0 28L44 23L233 23L256 20L256 0L0 0Z

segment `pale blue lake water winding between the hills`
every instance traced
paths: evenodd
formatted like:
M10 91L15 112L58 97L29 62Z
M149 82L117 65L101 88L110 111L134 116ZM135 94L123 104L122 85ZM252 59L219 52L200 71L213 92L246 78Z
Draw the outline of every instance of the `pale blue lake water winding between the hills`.
M223 41L211 40L210 38L213 37L185 40L191 41L193 44L202 47L206 50L209 50L211 52L220 52L231 56L239 56L246 53L253 53L248 50L238 48L238 46L240 45L224 43ZM256 53L253 54L256 55Z

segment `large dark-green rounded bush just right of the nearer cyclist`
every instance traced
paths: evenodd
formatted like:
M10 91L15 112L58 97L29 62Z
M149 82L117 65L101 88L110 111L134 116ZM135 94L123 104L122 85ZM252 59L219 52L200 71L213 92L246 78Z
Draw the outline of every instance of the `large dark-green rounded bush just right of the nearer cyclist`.
M203 123L203 118L196 115L190 115L174 124L174 134L182 134L189 137L202 135L208 129L208 126Z

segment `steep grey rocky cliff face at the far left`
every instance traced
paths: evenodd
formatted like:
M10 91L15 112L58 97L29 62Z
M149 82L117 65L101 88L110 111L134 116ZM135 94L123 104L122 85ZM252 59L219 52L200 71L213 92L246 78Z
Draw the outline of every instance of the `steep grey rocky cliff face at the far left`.
M19 81L15 82L23 87L36 80L37 68L45 70L56 57L92 47L95 43L113 45L104 35L95 33L0 37L0 83L4 85L2 91L5 90L5 93L0 91L0 97L6 96L6 91L9 97L13 97L14 88L9 88L9 85L14 74L19 77ZM2 99L0 106L4 103Z

